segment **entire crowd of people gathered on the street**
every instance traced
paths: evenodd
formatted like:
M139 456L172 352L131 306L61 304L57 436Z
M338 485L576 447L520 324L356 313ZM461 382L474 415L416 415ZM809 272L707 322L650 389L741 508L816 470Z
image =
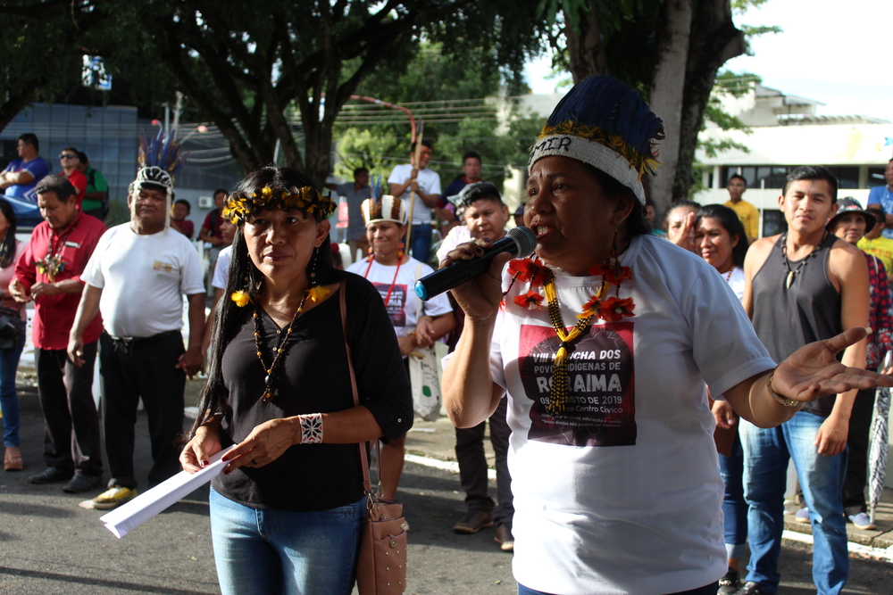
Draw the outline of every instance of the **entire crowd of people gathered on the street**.
M203 279L171 170L144 163L129 221L107 229L107 185L87 156L66 147L63 175L49 175L37 138L22 135L2 184L33 196L44 220L19 242L0 199L0 313L24 320L33 302L46 468L29 481L102 490L84 508L135 498L141 400L149 485L227 450L210 495L222 592L349 593L366 445L382 443L380 489L395 499L413 424L408 362L443 342L466 507L452 528L492 527L514 552L520 594L773 595L789 460L797 517L813 527L815 586L840 593L847 521L872 528L874 391L893 385L879 374L893 347L893 201L872 192L863 209L838 200L827 169L793 169L779 198L787 230L760 237L747 180L734 175L729 202L676 203L658 233L642 179L662 138L638 93L585 79L533 145L513 214L481 178L479 153L464 153L441 192L432 146L415 144L389 194L363 168L334 187L348 203L346 269L331 195L294 169L257 169L214 193L197 234L213 252ZM448 295L416 296L432 250L441 268L462 266L512 217L535 234L534 253L497 256ZM24 340L0 343L7 471L24 467L14 383ZM186 378L203 368L184 433ZM103 459L111 479L100 487Z

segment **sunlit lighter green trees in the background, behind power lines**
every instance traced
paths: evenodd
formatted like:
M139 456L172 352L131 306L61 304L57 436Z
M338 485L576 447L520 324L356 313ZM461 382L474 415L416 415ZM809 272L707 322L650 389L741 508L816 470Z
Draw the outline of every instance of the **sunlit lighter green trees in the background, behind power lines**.
M405 72L377 70L357 91L406 106L421 120L422 136L434 144L430 167L440 174L442 186L461 175L463 153L470 150L480 153L484 177L500 186L506 165L527 162L542 126L539 118L513 109L507 126L500 129L497 104L486 98L496 97L505 79L488 65L490 52L471 47L461 55L447 54L441 44L424 44ZM349 105L335 135L341 160L336 173L345 178L363 166L387 179L394 165L409 157L409 119L393 109L362 102Z

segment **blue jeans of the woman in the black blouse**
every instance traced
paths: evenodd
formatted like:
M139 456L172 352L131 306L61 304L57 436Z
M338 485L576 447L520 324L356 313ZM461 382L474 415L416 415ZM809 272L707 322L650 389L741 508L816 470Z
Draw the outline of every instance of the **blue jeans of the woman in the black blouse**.
M210 501L223 595L350 595L365 500L318 512L250 508L213 490Z

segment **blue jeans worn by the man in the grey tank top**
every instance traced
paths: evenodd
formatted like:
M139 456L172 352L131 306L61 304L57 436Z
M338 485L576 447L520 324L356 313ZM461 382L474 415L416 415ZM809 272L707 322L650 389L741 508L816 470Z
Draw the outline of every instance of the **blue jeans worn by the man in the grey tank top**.
M794 460L813 526L813 582L820 595L837 595L847 583L847 526L840 490L847 453L820 455L814 444L824 417L798 411L779 427L761 429L741 421L744 447L744 495L750 564L747 581L778 591L784 491L788 460Z

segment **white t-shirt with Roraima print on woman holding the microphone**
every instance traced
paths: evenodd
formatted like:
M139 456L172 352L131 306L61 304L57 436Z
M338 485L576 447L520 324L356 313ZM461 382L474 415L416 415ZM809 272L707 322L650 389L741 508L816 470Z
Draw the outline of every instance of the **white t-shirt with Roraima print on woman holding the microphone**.
M564 419L545 411L559 344L545 302L515 304L527 291L516 282L497 318L490 359L510 395L513 572L537 591L687 591L727 569L705 383L721 394L775 364L704 260L638 236L621 262L634 278L620 297L633 298L635 316L595 320L574 344ZM556 271L566 326L599 283Z

